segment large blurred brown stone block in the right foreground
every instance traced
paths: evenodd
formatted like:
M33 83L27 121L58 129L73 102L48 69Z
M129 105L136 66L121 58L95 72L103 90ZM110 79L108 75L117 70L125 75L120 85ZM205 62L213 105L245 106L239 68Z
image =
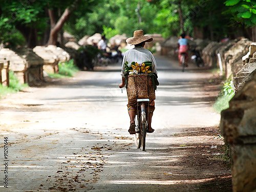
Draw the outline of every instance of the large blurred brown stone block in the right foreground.
M231 148L234 192L256 189L256 73L221 113L221 131Z

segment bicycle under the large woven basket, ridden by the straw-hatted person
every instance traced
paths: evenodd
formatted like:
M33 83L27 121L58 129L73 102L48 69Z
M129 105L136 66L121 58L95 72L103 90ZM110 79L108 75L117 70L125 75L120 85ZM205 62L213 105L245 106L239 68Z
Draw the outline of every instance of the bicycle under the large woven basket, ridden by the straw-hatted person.
M135 127L135 141L137 148L141 147L145 151L146 146L146 127L148 122L148 103L150 99L137 99L137 126Z

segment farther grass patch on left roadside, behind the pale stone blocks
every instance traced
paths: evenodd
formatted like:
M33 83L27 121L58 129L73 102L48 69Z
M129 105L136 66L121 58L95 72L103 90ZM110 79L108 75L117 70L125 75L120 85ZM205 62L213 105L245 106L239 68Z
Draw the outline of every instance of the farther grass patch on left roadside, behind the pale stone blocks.
M59 62L58 63L59 72L49 73L48 76L51 78L62 78L62 77L73 77L79 69L75 66L74 60Z

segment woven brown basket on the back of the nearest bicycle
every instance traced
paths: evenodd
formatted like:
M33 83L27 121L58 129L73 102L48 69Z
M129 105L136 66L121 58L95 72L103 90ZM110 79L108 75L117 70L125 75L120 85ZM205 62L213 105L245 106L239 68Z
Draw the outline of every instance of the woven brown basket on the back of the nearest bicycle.
M129 75L127 84L128 101L136 99L156 99L152 78L148 75Z

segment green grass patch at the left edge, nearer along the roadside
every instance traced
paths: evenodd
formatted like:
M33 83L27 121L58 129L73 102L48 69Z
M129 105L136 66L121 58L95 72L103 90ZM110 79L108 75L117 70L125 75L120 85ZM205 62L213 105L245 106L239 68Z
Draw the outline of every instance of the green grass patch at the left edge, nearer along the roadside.
M16 93L24 88L28 87L28 84L22 84L18 81L18 78L15 76L13 71L9 71L9 79L10 79L10 86L6 87L0 84L0 97Z

